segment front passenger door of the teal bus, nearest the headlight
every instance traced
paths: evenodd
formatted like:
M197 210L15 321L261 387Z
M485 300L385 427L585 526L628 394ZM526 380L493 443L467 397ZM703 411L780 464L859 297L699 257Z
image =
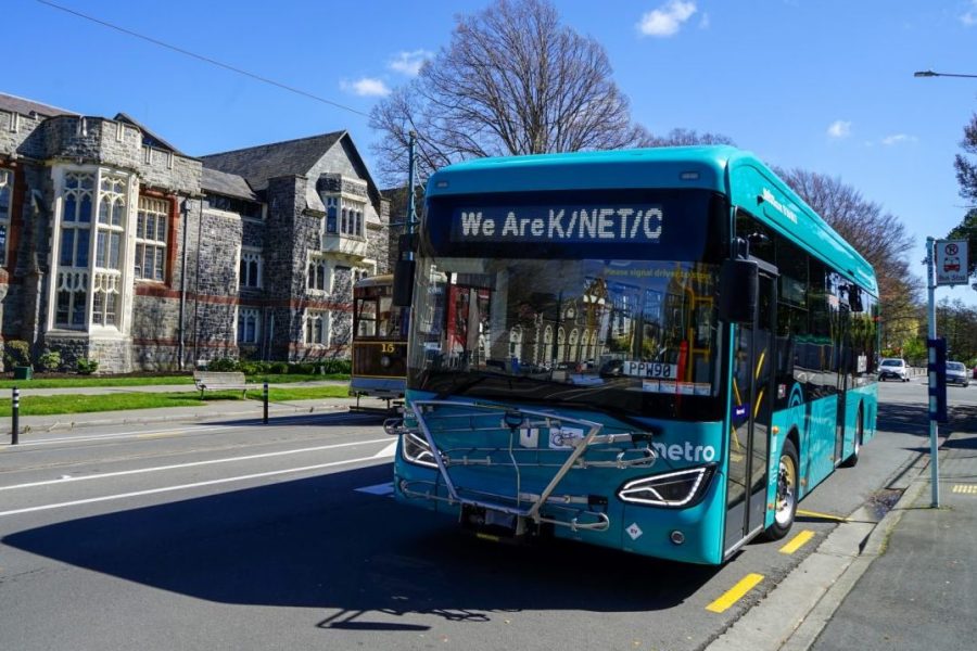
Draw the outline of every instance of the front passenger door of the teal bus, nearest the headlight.
M752 323L736 328L733 339L724 556L762 528L766 514L776 291L776 268L760 261L757 314Z

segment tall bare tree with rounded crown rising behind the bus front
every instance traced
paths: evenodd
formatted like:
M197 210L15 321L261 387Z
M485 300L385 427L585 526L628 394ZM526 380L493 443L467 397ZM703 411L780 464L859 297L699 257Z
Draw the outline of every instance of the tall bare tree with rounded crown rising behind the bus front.
M373 151L392 184L418 133L420 179L482 156L606 150L647 143L604 48L560 24L548 0L497 0L460 15L451 42L373 108Z

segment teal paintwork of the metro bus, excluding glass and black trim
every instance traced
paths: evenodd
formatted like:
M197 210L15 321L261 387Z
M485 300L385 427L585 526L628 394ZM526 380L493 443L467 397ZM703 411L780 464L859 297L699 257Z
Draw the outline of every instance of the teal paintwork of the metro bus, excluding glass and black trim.
M510 193L523 191L559 191L587 189L708 189L723 193L729 199L731 224L735 209L745 209L784 232L798 246L825 259L849 280L858 282L873 295L878 286L868 263L851 246L846 244L827 225L794 193L773 171L749 152L732 146L689 146L632 150L619 152L585 152L572 154L547 154L537 156L515 156L506 158L482 158L452 165L435 173L427 189L429 199L442 195ZM733 341L735 327L726 326L727 341ZM726 350L726 368L732 368L732 350ZM726 383L729 384L728 382ZM803 403L803 392L791 387L788 408L772 414L771 425L777 434L770 441L771 481L767 488L765 523L770 526L774 519L776 473L784 441L794 437L800 449L799 469L801 485L799 496L803 497L814 486L828 476L842 459L851 455L854 446L855 420L859 406L865 425L863 443L874 435L877 412L877 385L871 383L851 390L845 412L843 447L840 459L835 458L835 432L837 427L837 396ZM415 399L430 398L408 388L408 405ZM726 404L731 405L727 386ZM599 421L611 427L622 427L612 418L591 412L575 414ZM608 473L591 469L567 477L568 489L608 497L607 514L612 525L607 532L573 532L557 527L555 535L594 545L623 549L640 554L673 559L691 563L718 564L723 562L724 520L726 513L726 477L729 463L731 417L722 423L680 423L662 419L648 419L648 425L660 431L656 441L665 446L664 458L648 469L629 469ZM773 429L772 427L772 429ZM626 429L626 427L624 427ZM492 436L491 434L488 436ZM497 437L498 435L496 435ZM439 445L471 445L457 433L441 432L436 435ZM490 441L497 445L498 441ZM680 468L701 465L701 460L672 460L677 448L669 446L691 445L714 446L718 467L705 498L697 505L684 509L663 509L625 503L614 494L629 478L663 473ZM403 441L401 441L401 446ZM661 449L656 448L657 451ZM481 469L482 471L484 470ZM460 469L459 475L469 485L480 489L495 489L510 486L511 476L500 469L490 472ZM404 460L398 446L395 462L395 497L414 506L435 511L458 514L457 505L443 501L407 497L401 490L402 481L424 480L439 484L434 493L447 495L440 483L439 472L430 468L415 465ZM454 475L453 475L454 476ZM611 481L609 477L613 477ZM528 475L531 485L544 477ZM629 533L629 529L631 533ZM685 542L676 546L669 540L669 534L681 531ZM640 532L635 536L635 532Z

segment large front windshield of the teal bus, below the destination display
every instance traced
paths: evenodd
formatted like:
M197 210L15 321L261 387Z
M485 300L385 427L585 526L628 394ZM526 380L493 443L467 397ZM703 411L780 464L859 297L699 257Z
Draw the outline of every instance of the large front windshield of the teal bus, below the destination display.
M420 257L413 388L720 419L718 266Z

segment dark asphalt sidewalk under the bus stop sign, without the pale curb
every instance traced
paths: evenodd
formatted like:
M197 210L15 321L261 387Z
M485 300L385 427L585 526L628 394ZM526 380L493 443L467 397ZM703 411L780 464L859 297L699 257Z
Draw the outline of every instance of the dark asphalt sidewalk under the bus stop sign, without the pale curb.
M840 603L813 643L807 642L802 625L801 635L784 649L975 648L977 410L960 416L940 448L940 508L931 507L929 464L921 464L918 476L870 537L863 566L849 569L860 575L847 595L834 597ZM832 599L829 591L825 600Z

